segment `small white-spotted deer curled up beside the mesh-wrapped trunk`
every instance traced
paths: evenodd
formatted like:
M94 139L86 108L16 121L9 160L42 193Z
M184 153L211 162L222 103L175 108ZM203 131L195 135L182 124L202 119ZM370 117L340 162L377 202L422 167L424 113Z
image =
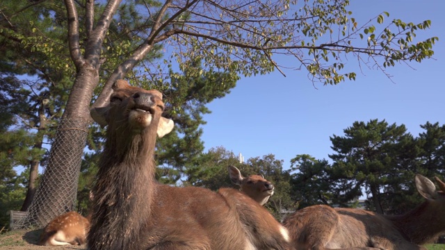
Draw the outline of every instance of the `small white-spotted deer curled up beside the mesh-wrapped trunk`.
M44 227L39 243L42 246L81 245L86 242L89 219L74 211L54 218Z

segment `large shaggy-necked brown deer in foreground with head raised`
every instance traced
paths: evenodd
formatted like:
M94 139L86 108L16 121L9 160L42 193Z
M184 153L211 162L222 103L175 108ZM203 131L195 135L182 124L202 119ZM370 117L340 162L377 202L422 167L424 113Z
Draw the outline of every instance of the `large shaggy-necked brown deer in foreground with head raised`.
M93 119L108 128L88 249L291 249L286 229L238 190L155 181L156 133L161 138L173 128L163 110L160 92L126 81L113 85L107 106L92 108Z

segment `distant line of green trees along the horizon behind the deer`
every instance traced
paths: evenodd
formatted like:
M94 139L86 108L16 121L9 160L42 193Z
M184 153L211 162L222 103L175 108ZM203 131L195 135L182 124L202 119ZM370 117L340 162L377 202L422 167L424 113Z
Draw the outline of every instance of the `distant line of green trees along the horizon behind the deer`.
M282 211L315 204L354 206L351 201L358 197L365 197L369 210L399 214L421 202L414 188L414 174L430 178L444 176L445 125L426 122L421 128L423 132L414 137L403 124L388 124L378 119L354 122L343 130L344 135L330 137L334 151L328 156L330 160L298 154L291 160L290 169L283 169L283 160L275 159L273 154L239 163L238 157L224 147L202 152L200 140L190 144L188 152L192 153L184 157L175 156L171 152L174 148L171 151L165 149L168 140L179 140L175 135L159 142L156 178L162 183L194 185L211 190L236 188L227 172L228 165L235 165L244 176L263 174L275 185L275 194L266 208L277 219L282 218ZM97 133L95 136L100 138L101 135ZM95 141L99 142L99 138ZM0 164L6 170L0 172L0 226L3 227L8 224L6 212L19 210L24 202L29 169L17 174L15 169L8 167L14 165L13 162L23 162L19 155L10 158L11 154L8 154L22 144L13 137L2 136L1 140L4 142L0 144ZM184 147L186 145L184 142ZM83 158L77 195L77 209L83 214L88 213L89 190L97 172L100 153L98 148Z

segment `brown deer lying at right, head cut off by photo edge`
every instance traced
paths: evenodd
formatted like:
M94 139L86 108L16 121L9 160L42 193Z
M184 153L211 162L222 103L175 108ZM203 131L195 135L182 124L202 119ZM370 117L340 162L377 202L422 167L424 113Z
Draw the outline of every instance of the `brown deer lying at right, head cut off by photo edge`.
M420 245L445 231L445 183L439 191L416 174L416 188L426 201L404 215L378 215L353 208L310 206L284 219L296 249L426 249Z

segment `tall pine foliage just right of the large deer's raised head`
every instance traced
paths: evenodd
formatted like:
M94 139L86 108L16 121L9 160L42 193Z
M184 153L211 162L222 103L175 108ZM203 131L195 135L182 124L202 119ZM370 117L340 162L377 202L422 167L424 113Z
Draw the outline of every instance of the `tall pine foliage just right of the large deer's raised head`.
M200 126L206 124L202 115L211 113L207 104L225 97L238 80L220 72L200 74L203 71L200 61L189 63L193 66L185 67L181 74L170 72L169 88L163 91L167 103L164 116L175 121L173 133L159 140L156 146L156 159L164 170L173 167L174 171L184 172L188 163L195 162L204 150Z

